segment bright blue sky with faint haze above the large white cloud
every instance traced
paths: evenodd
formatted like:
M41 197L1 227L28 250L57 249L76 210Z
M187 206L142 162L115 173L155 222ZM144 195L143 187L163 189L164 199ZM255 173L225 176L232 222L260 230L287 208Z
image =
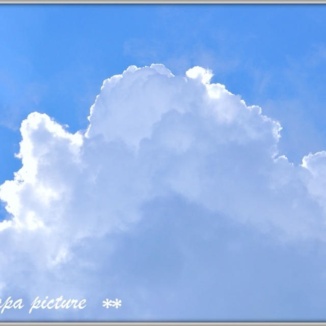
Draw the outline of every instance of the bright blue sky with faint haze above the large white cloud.
M325 14L323 5L2 5L0 181L19 167L28 113L86 128L105 78L153 62L175 74L212 69L213 81L281 121L280 149L299 162L326 147Z

